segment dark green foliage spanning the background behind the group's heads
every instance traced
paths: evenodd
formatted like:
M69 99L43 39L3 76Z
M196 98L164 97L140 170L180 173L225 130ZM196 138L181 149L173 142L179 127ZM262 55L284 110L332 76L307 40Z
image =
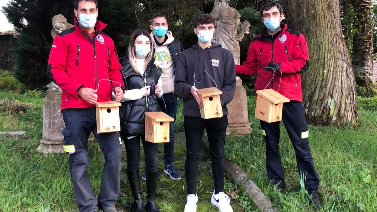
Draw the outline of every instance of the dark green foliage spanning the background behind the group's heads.
M263 24L259 7L266 0L232 1L242 15L241 21L251 23L250 35L241 41L241 61L246 59L251 39L261 31ZM214 0L99 0L98 20L107 23L104 32L115 42L120 56L127 54L129 35L135 29L150 32L150 18L156 12L165 14L169 30L182 41L184 48L190 48L198 40L193 33L193 22L202 13L210 13ZM248 6L248 7L247 7ZM64 15L73 24L74 1L66 0L11 0L2 8L9 22L20 35L12 46L15 66L12 70L18 80L31 89L41 88L49 83L46 75L52 37L50 35L54 15Z

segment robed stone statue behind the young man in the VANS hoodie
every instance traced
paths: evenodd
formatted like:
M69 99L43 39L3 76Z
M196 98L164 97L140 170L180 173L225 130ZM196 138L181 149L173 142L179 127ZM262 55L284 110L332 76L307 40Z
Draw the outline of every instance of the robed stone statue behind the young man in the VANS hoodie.
M215 35L213 41L221 45L222 48L232 52L234 63L240 64L240 48L238 41L244 38L244 34L249 34L250 23L241 23L241 15L235 8L229 6L230 0L215 0L211 15L215 18Z

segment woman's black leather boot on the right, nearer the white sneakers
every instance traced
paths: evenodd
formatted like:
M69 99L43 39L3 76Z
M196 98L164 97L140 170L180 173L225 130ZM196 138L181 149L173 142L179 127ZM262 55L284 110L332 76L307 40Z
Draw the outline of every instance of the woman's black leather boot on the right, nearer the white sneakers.
M145 210L147 212L160 212L160 209L156 206L156 190L157 190L157 180L158 171L151 172L147 171L147 204L145 205Z

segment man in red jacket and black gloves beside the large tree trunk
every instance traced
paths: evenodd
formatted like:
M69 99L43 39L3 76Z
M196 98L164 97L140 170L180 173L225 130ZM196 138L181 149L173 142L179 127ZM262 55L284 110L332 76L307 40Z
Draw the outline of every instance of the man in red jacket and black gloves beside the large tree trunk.
M296 152L299 173L306 175L305 187L315 207L320 207L318 197L319 177L314 167L309 147L309 131L302 104L301 76L309 67L309 53L305 37L288 29L283 20L283 8L276 2L261 7L264 28L250 44L247 60L236 65L237 74L257 74L255 91L272 88L291 101L284 103L282 119ZM266 141L268 179L282 189L284 174L279 154L279 124L260 121Z

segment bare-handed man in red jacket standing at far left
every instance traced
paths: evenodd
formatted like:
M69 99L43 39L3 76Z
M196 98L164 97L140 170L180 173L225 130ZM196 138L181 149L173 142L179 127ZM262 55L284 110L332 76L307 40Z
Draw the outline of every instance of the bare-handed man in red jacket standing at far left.
M124 84L114 43L101 32L106 24L97 21L97 8L97 0L75 0L74 28L56 35L47 74L63 90L63 148L69 152L69 170L78 207L80 211L92 212L101 207L106 212L116 212L122 157L120 135L97 133L94 104L110 101L112 92L119 101ZM97 138L105 158L98 198L86 172L90 132Z

